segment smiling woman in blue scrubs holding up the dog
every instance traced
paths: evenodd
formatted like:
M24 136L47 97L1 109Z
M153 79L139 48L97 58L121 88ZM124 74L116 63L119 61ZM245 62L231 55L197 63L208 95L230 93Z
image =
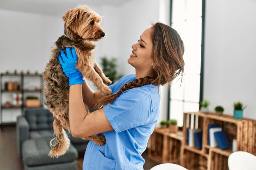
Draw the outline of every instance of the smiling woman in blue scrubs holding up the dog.
M146 29L132 45L128 59L136 74L125 75L110 85L113 94L107 96L91 90L75 68L74 48L66 49L67 56L61 50L59 61L73 84L69 88L72 135L82 138L98 134L106 138L103 146L89 141L83 170L143 170L141 154L159 117L159 86L168 83L170 87L175 77L181 72L183 75L184 45L179 34L162 23ZM99 110L87 114L83 102Z

